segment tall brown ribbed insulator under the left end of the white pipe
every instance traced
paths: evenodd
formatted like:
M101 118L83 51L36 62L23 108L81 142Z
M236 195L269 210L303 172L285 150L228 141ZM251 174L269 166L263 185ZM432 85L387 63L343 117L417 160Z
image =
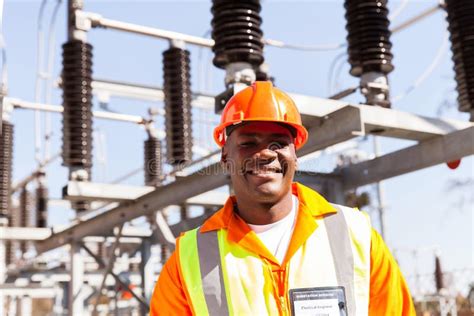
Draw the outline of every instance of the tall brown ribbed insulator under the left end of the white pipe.
M92 167L92 46L63 45L63 164L90 173ZM90 178L90 176L89 176Z

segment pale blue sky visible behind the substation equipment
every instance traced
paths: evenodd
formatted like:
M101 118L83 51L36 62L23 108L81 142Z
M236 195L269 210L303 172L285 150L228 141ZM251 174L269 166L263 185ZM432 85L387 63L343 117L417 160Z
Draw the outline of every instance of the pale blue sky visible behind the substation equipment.
M65 1L63 1L65 2ZM45 30L56 1L48 1L45 11ZM346 30L342 1L264 1L262 28L266 38L293 44L326 44L345 42ZM434 6L435 0L409 1L392 26ZM391 1L389 8L396 11L401 3ZM6 1L3 30L7 45L9 96L28 101L34 100L37 52L37 17L40 1ZM85 1L85 10L104 17L142 24L165 30L173 30L203 36L210 29L210 2L207 1ZM55 65L53 78L61 70L61 45L66 38L65 6L60 9L55 25ZM392 36L393 63L390 74L391 94L402 94L430 65L443 43L446 30L442 11L426 18L407 30ZM94 77L162 86L162 51L168 48L163 40L120 33L110 30L91 30L88 35L94 46ZM192 89L212 94L223 91L224 72L212 66L212 53L207 49L189 46L192 62ZM274 47L265 48L265 59L271 75L283 90L326 97L329 95L328 71L334 57L344 50L305 52ZM451 51L444 51L439 65L414 91L393 105L393 108L426 116L436 117L443 102L455 103L456 93L452 71ZM344 63L337 74L340 89L356 85L358 80L348 74ZM337 90L337 89L336 89ZM348 98L355 103L363 98L356 94ZM52 103L61 104L61 91L53 89ZM146 115L149 107L162 107L145 101L112 98L110 107L116 111ZM99 109L97 100L95 109ZM209 130L216 116L194 113L201 123L195 126L199 144L215 149L209 138ZM445 110L443 117L468 120L468 115L455 108ZM33 168L34 120L33 112L18 110L13 114L15 124L14 181L23 178ZM51 152L61 148L61 118L53 114L53 141ZM162 128L162 119L157 126ZM98 153L94 152L96 167L94 181L112 181L142 164L142 143L146 138L142 128L128 123L95 121L96 131L106 139L107 167L97 167ZM382 139L382 151L390 152L410 144L407 141ZM96 145L97 148L97 145ZM362 142L361 148L371 150L371 142ZM334 165L334 157L322 157L316 161L315 171L328 171ZM415 272L415 261L410 249L419 251L418 271L431 273L434 269L433 247L441 251L445 270L474 269L473 248L473 187L448 191L453 180L473 179L472 157L463 159L461 166L450 170L439 165L384 182L387 204L387 243L393 249L402 270L408 276ZM66 183L67 170L57 161L48 168L50 195L60 197ZM140 185L143 175L128 180ZM374 198L375 199L375 198ZM465 200L463 206L460 201ZM377 227L376 214L371 214ZM52 208L49 220L66 223L72 216L69 210ZM472 270L471 270L472 272ZM472 275L472 274L471 274ZM454 282L460 284L458 275ZM465 274L463 284L474 281ZM470 278L470 280L466 279ZM458 283L459 282L459 283ZM465 291L465 288L460 288Z

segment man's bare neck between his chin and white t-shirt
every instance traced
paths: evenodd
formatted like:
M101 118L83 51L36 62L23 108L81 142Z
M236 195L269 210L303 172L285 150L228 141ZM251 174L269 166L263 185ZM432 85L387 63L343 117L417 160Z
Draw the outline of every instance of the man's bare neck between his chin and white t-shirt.
M277 222L291 212L293 199L291 190L276 202L254 202L236 196L238 214L247 223L266 225Z

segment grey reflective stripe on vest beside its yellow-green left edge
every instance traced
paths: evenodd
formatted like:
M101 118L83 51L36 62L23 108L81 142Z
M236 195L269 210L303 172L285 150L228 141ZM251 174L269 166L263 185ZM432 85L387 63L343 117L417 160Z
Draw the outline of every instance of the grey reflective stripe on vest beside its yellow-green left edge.
M202 289L209 315L229 315L217 231L197 232Z

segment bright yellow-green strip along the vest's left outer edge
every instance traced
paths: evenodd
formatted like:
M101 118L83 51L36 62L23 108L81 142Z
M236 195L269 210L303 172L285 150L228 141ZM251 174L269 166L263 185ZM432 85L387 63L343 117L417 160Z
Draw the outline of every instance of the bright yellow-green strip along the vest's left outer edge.
M186 232L179 239L179 264L184 284L191 298L191 304L197 315L208 315L206 299L202 289L201 267L197 247L197 230Z

